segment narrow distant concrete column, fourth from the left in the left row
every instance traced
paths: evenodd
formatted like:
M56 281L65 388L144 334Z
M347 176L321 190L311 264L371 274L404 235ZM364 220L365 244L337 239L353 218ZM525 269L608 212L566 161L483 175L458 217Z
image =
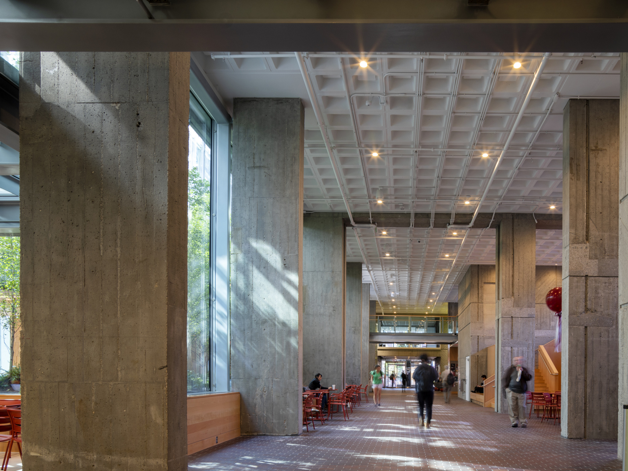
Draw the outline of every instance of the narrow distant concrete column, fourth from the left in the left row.
M345 304L345 382L362 379L362 263L347 263Z

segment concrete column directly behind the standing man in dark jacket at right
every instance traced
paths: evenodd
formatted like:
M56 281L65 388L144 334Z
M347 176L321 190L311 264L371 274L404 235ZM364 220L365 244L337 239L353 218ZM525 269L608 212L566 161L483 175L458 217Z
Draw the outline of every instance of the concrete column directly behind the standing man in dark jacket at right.
M495 411L508 411L502 376L514 357L524 357L534 385L536 222L508 214L495 234ZM462 357L460 357L462 359ZM462 361L462 360L461 360ZM499 392L498 392L499 391Z

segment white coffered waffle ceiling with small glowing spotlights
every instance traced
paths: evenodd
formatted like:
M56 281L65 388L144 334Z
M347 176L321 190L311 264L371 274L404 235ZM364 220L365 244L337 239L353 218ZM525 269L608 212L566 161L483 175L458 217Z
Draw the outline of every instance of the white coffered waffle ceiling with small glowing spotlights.
M436 55L305 55L352 212L448 213L453 221L455 214L475 210L541 57ZM194 57L228 109L234 97L303 99L304 209L345 211L293 53ZM360 67L361 60L367 67ZM521 68L512 67L516 60ZM619 57L553 54L481 212L561 212L562 110L571 97L618 98ZM433 227L391 228L384 236L360 228L357 234L360 241L347 230L347 259L362 261L360 242L364 282L374 283L372 299L384 311L446 310L443 302L455 300L452 287L468 264L495 258L494 229L471 229L462 249L462 231L453 236L452 230ZM561 237L560 230L537 231L538 264L561 264Z

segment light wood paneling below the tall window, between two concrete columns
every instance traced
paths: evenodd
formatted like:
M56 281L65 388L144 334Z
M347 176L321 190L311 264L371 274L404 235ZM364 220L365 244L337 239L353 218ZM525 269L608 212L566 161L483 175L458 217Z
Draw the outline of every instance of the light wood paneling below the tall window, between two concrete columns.
M188 455L240 436L240 393L188 396Z

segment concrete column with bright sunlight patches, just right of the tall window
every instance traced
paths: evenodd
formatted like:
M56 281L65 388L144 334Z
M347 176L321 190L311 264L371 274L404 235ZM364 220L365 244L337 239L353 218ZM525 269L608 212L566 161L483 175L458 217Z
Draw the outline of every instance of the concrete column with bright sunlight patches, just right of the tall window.
M301 433L303 104L234 100L231 389L242 435Z

